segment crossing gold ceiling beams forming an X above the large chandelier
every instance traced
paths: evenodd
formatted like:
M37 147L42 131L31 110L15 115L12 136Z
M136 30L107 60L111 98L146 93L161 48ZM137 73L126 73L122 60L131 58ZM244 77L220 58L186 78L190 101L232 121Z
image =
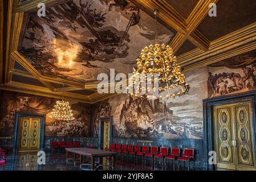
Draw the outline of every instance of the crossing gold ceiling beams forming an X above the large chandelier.
M189 15L188 19L184 19L180 14L177 13L166 1L144 1L137 0L138 3L147 7L151 11L159 10L159 18L163 20L170 27L173 27L177 31L177 35L174 36L170 47L173 48L173 52L177 52L182 44L189 39L190 42L195 44L197 47L204 51L209 48L209 40L202 36L196 30L196 27L201 23L201 21L208 15L209 3L217 3L218 0L200 0L198 1L196 7L194 7L192 13Z

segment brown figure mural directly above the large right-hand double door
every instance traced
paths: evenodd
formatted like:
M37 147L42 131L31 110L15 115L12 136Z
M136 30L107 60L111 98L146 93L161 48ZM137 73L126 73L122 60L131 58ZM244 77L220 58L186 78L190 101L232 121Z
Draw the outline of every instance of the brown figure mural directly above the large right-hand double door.
M256 89L256 53L232 57L209 66L208 97Z

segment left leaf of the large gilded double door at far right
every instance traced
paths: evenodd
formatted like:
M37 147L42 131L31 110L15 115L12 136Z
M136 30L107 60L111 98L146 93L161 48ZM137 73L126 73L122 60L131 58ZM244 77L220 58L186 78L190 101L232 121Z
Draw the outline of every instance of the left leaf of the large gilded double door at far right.
M231 130L231 107L216 107L215 114L216 148L218 154L217 167L234 169L233 148L231 147L231 140L233 138Z

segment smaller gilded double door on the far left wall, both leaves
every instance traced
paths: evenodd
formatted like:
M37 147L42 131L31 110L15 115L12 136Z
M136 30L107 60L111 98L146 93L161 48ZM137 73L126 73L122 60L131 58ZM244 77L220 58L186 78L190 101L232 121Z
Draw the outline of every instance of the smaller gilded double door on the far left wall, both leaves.
M21 118L19 151L38 151L40 141L40 118Z

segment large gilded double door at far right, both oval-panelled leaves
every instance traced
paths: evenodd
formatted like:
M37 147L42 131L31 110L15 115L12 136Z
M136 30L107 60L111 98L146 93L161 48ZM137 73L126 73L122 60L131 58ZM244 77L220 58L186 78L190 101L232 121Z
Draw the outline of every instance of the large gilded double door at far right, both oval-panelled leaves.
M255 169L250 102L214 107L217 167Z

